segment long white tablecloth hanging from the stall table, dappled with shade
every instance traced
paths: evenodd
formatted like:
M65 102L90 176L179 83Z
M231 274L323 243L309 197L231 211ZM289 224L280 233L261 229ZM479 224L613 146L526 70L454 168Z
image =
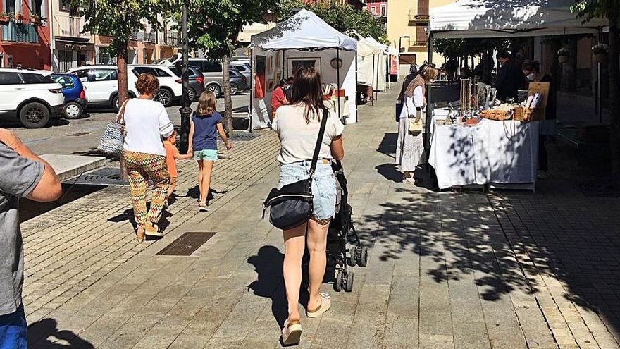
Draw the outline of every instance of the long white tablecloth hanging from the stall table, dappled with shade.
M429 163L439 188L469 184L535 183L538 121L434 125Z

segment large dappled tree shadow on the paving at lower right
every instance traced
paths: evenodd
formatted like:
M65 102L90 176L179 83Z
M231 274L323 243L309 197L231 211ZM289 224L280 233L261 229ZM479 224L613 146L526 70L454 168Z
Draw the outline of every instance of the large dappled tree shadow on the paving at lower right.
M374 240L382 261L423 258L421 273L437 283L471 279L483 300L563 297L620 341L620 216L612 213L620 202L614 192L584 195L588 178L574 154L559 145L549 153L552 178L535 195L396 188L399 196L361 217L360 238Z

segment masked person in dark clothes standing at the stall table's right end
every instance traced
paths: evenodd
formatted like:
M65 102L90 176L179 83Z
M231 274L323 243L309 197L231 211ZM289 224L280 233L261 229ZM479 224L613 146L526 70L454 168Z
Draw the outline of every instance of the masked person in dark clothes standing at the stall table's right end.
M547 107L545 109L545 120L540 121L538 136L538 178L549 177L547 171L547 136L554 136L557 133L557 96L555 85L551 75L540 71L540 63L530 61L523 63L523 74L526 75L528 82L549 82L549 96L547 97Z

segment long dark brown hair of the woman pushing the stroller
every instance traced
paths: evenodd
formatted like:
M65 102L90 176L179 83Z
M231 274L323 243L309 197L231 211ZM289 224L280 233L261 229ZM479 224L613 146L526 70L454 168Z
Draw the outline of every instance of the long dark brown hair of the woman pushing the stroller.
M323 89L321 88L321 74L313 67L301 68L295 73L290 104L304 104L306 106L306 123L310 119L318 118L321 121L323 111L327 110L323 103Z

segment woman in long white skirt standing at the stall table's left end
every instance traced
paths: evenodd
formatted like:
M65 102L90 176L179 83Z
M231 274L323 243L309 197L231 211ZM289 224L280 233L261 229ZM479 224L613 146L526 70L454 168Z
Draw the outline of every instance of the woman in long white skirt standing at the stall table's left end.
M426 107L426 84L433 83L437 75L439 71L434 66L421 67L418 75L409 82L400 99L404 102L404 106L399 116L396 163L400 165L403 172L403 183L415 183L414 171L421 163L424 151L422 133L414 135L409 132L409 119L415 118L418 121L423 117Z

